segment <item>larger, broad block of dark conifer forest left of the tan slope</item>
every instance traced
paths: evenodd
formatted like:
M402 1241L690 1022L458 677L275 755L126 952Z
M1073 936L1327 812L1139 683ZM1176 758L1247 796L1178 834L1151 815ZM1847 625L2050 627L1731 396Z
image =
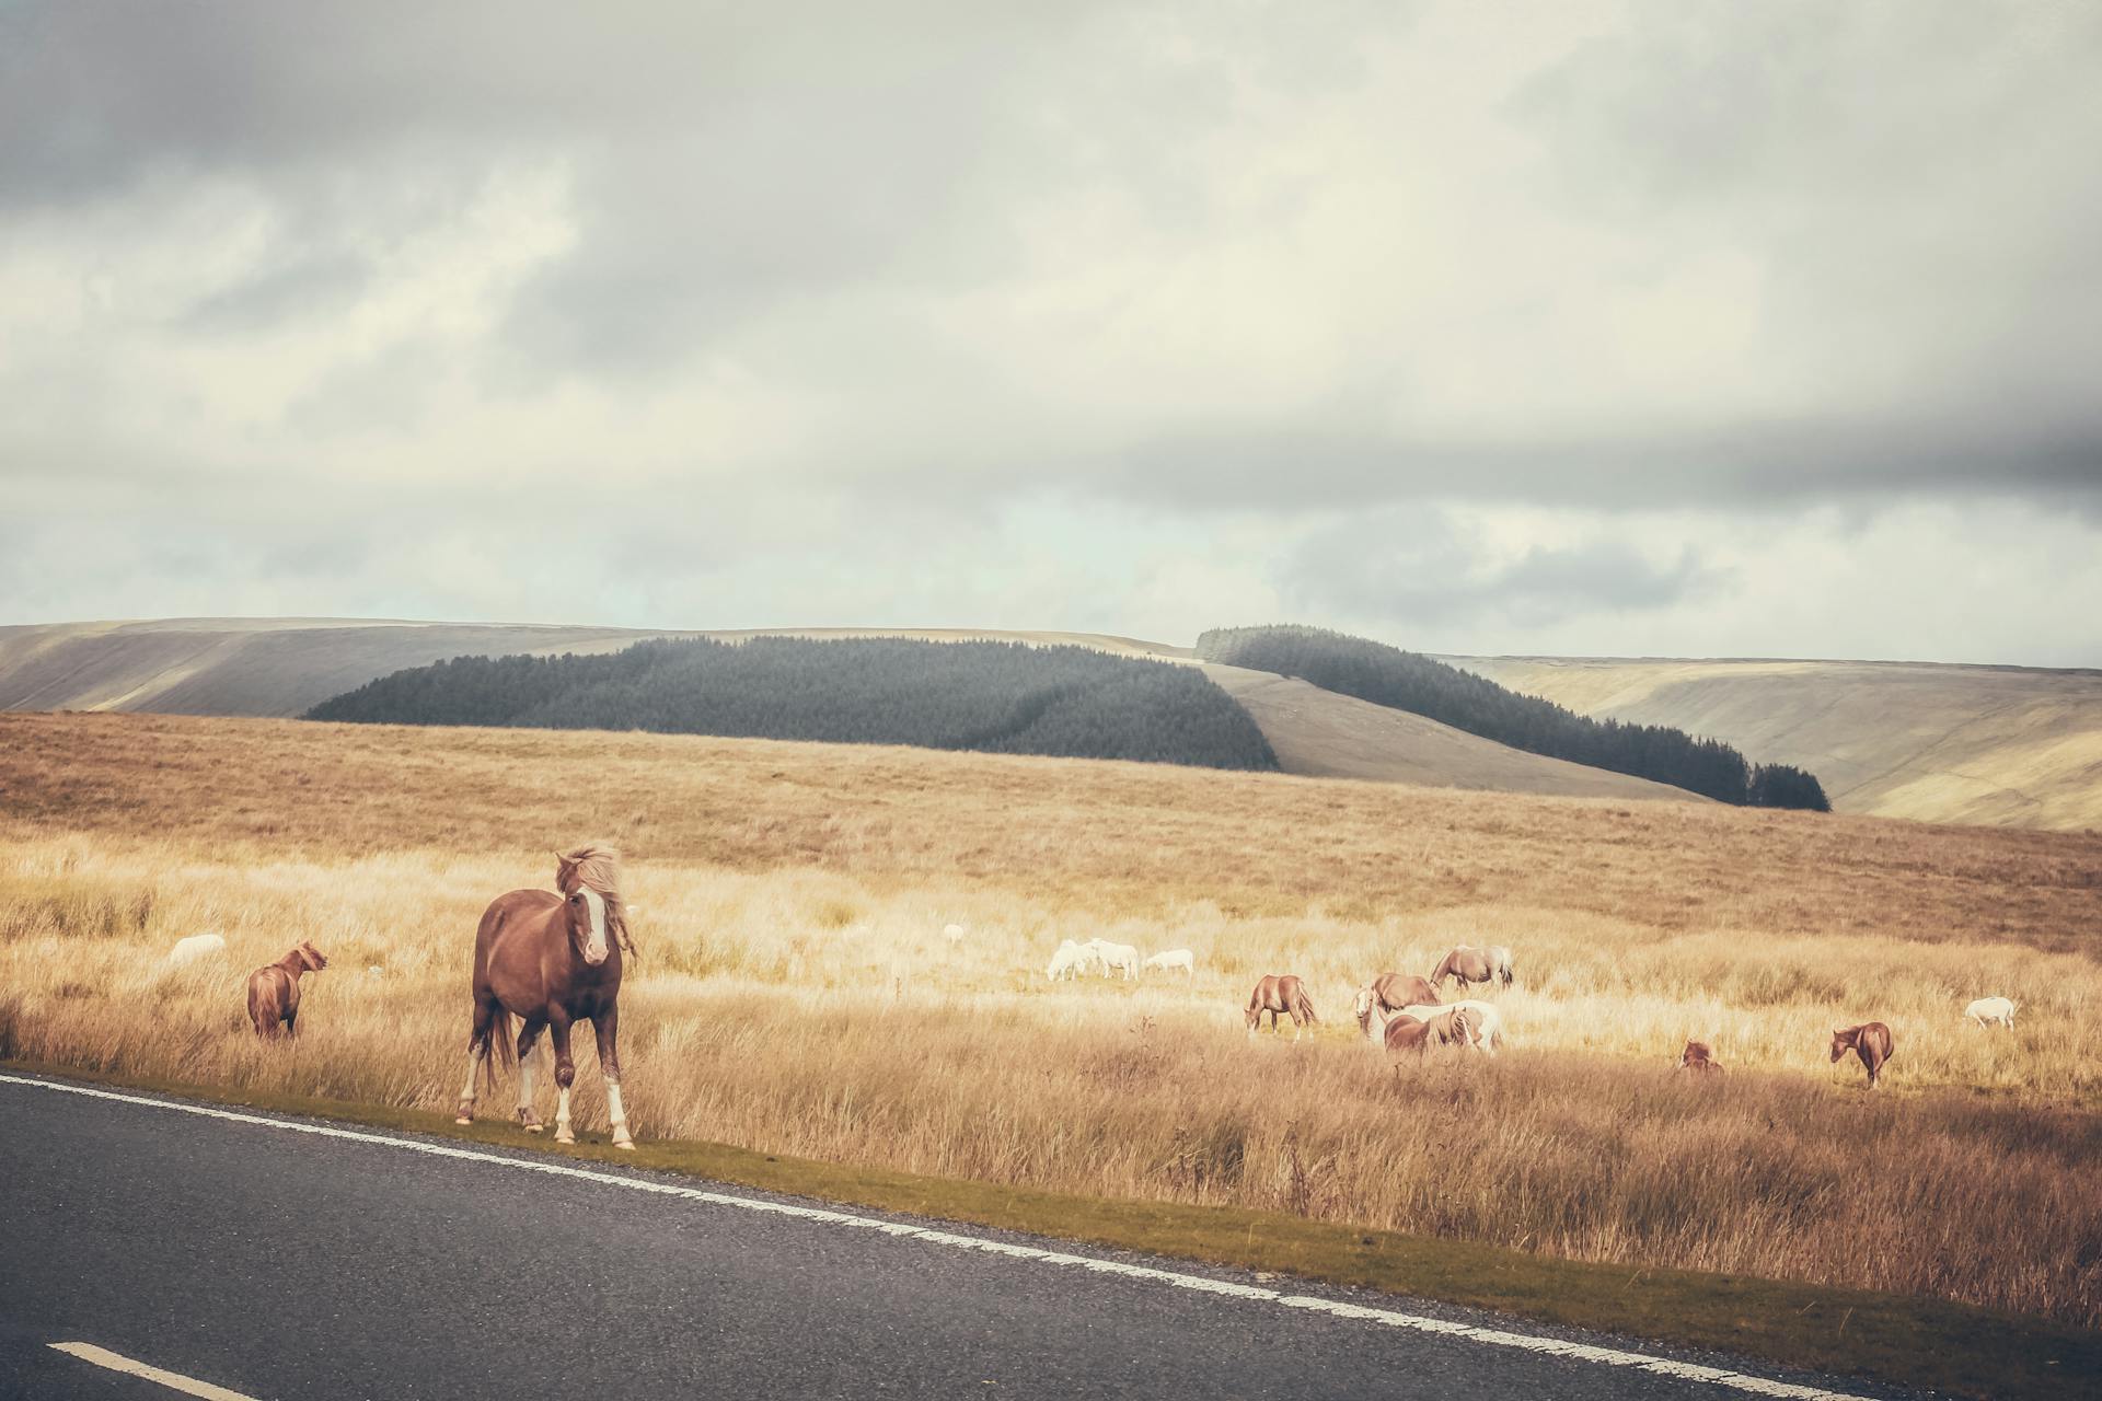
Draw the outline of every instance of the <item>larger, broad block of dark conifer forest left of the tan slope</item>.
M307 718L1278 767L1255 720L1194 666L1024 643L755 636L593 657L454 657L345 691Z

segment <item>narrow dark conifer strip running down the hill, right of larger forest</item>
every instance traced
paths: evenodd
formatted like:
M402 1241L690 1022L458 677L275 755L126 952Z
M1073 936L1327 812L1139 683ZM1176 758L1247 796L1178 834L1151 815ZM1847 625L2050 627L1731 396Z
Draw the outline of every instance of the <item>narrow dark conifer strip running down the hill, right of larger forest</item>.
M1495 681L1431 657L1322 628L1213 628L1196 641L1207 662L1299 676L1339 691L1429 716L1513 750L1568 758L1671 783L1753 807L1801 807L1829 813L1825 788L1789 765L1747 765L1719 739L1696 739L1665 725L1593 720L1539 695L1505 691Z

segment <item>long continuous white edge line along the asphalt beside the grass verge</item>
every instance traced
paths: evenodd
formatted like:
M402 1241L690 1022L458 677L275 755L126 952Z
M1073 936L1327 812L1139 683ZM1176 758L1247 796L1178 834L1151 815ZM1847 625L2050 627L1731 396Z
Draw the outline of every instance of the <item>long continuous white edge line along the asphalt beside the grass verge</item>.
M1181 1275L1177 1271L1152 1269L1148 1264L1125 1264L1122 1260L1101 1260L1095 1256L1064 1254L1057 1250L1036 1250L1034 1246L992 1241L980 1235L929 1231L927 1227L910 1227L900 1220L877 1220L874 1216L856 1216L851 1212L832 1212L813 1206L790 1206L786 1201L740 1197L725 1191L704 1191L700 1187L675 1187L671 1183L650 1183L643 1178L620 1176L616 1172L593 1172L591 1168L578 1168L574 1164L547 1157L504 1157L502 1153L483 1153L479 1149L462 1149L446 1143L418 1143L416 1138L395 1138L391 1134L374 1134L359 1128L336 1128L334 1124L273 1120L261 1113L242 1113L240 1109L214 1109L210 1105L147 1099L145 1094L97 1090L84 1084L65 1084L63 1080L34 1080L29 1075L0 1073L0 1084L21 1084L21 1086L32 1086L36 1090L82 1094L86 1099L114 1099L124 1105L145 1105L147 1109L170 1109L174 1113L193 1113L206 1120L227 1120L229 1124L252 1124L256 1128L275 1128L294 1134L317 1134L322 1138L345 1138L349 1143L374 1143L391 1149L404 1149L410 1153L427 1153L431 1157L458 1157L462 1162L488 1164L492 1168L513 1168L517 1172L544 1172L549 1176L568 1176L584 1183L599 1183L603 1187L624 1187L628 1191L647 1191L662 1197L685 1197L687 1201L706 1201L708 1206L731 1206L744 1212L795 1216L799 1220L822 1220L834 1227L881 1231L883 1235L908 1235L912 1239L927 1241L929 1246L948 1246L952 1250L980 1250L986 1254L1011 1256L1015 1260L1034 1260L1038 1264L1064 1264L1068 1269L1087 1269L1095 1271L1097 1275L1125 1275L1127 1279L1152 1279L1156 1283L1175 1285L1177 1290L1196 1290L1200 1294L1225 1294L1228 1298L1270 1302L1282 1309L1305 1309L1310 1313L1326 1313L1339 1319L1362 1319L1366 1323L1379 1323L1383 1327L1408 1327L1423 1334L1446 1334L1450 1338L1467 1338L1469 1342L1484 1342L1488 1346L1499 1346L1499 1348L1547 1353L1551 1357L1574 1357L1581 1361L1602 1363L1608 1367L1635 1367L1640 1372L1656 1372L1661 1376L1675 1376L1690 1382L1713 1382L1715 1386L1726 1386L1730 1390L1745 1390L1759 1397L1793 1397L1793 1401L1869 1401L1867 1397L1854 1397L1843 1390L1825 1390L1820 1386L1801 1386L1797 1382L1776 1382L1745 1372L1728 1372L1724 1367L1703 1367L1698 1363L1673 1361L1669 1357L1650 1357L1648 1353L1623 1353L1619 1348L1600 1348L1585 1342L1568 1342L1566 1338L1543 1338L1537 1334L1511 1334L1497 1327L1474 1327L1471 1323L1452 1323L1448 1319L1431 1319L1415 1313L1396 1313L1392 1309L1368 1309L1364 1304L1345 1304L1333 1298L1312 1298L1305 1294L1284 1294L1280 1290L1263 1290L1259 1285L1249 1285L1249 1283L1230 1283L1225 1279L1204 1279L1202 1275ZM231 1395L231 1393L217 1393L217 1395Z

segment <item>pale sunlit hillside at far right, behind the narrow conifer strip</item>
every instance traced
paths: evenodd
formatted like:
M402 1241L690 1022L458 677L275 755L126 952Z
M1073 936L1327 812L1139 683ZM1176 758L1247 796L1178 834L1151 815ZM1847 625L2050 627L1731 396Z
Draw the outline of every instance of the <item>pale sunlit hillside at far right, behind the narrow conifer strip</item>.
M1446 657L1570 710L1812 769L1841 813L2102 828L2102 672L1930 662Z

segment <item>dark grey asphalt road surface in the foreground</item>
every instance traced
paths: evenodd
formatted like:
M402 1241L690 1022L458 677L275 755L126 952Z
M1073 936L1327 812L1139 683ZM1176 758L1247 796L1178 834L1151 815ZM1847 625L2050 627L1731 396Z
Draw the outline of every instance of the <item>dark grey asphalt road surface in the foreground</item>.
M25 1084L0 1082L0 1397L177 1395L57 1353L55 1342L95 1344L246 1397L1751 1395L1070 1258L990 1254L954 1237ZM1255 1294L1289 1290L1310 1302L1736 1365L1419 1300L1070 1252Z

